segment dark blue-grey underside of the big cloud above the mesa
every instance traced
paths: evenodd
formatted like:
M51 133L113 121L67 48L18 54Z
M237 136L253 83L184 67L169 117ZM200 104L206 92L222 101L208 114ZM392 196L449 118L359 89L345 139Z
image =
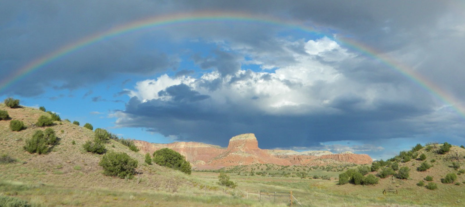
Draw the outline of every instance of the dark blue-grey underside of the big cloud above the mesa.
M180 140L222 146L237 134L252 132L259 138L262 148L318 146L322 140L371 140L374 135L377 139L415 136L433 130L404 120L418 115L418 110L412 110L414 106L386 105L389 104L333 115L266 115L233 103L219 109L193 102L141 102L133 97L126 110L120 112L125 118L119 119L117 125L144 127L165 136L178 135ZM391 115L386 117L386 114Z

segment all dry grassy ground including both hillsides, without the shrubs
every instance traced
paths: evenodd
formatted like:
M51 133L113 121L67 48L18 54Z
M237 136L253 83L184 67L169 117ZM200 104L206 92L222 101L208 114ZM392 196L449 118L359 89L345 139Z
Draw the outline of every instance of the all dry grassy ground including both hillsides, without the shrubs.
M55 121L51 126L60 138L60 144L46 155L30 154L22 146L35 130L44 129L34 126L34 123L40 115L47 113L27 107L9 109L2 104L0 110L7 110L13 119L21 120L27 126L20 132L12 132L8 127L11 120L0 120L0 155L15 160L0 163L0 199L1 196L15 197L41 207L284 207L289 201L286 197L279 197L276 202L271 197L263 197L259 202L258 193L292 191L305 207L465 205L465 175L458 173L465 166L465 149L457 146L445 155L435 152L440 144L431 151L420 150L419 153L425 153L426 161L433 165L423 172L416 170L423 161L412 159L399 163L399 167L411 169L410 178L406 180L388 176L374 186L337 185L342 170L358 166L332 166L328 169L321 166L257 164L224 169L237 183L237 188L232 189L217 184L218 172L194 171L192 175L186 175L158 165L147 165L143 154L130 151L114 140L110 140L106 148L125 152L138 160L138 173L132 180L104 176L98 165L102 155L91 154L82 148L82 144L93 138L93 132L66 121ZM451 168L452 162L458 162L461 167ZM460 174L456 181L459 185L440 182L450 172ZM438 189L429 190L416 185L428 175L433 177ZM329 179L315 179L314 176ZM382 193L389 188L397 189L399 194Z

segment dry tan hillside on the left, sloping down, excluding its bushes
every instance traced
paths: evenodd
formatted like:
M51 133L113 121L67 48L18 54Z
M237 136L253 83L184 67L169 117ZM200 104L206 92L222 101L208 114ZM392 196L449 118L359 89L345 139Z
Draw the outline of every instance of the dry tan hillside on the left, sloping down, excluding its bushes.
M82 147L86 141L93 139L94 132L67 121L54 121L50 126L59 138L59 144L53 146L46 154L30 154L23 149L25 140L31 138L36 130L44 131L48 128L36 126L35 123L41 115L49 116L49 114L30 107L9 108L3 103L0 104L0 110L7 111L11 117L0 120L0 156L16 160L12 163L0 163L0 192L7 195L17 194L16 188L31 189L34 190L33 192L42 192L40 190L44 189L50 194L45 203L74 206L77 204L73 203L72 199L60 201L61 196L54 193L67 192L70 188L82 194L110 189L122 190L123 194L131 190L173 192L178 191L179 188L188 190L186 186L201 182L194 181L190 176L177 170L156 164L147 165L144 163L143 154L131 151L127 146L113 139L105 144L107 151L124 152L136 159L139 164L132 180L105 176L102 174L102 167L99 166L103 155L86 152ZM12 120L23 121L27 128L20 132L12 132L9 128ZM99 196L91 197L99 198ZM24 197L24 199L31 198ZM80 202L78 206L93 206L95 202L100 201L89 198L80 199ZM139 201L134 202L139 206L137 204ZM107 206L118 206L117 203L116 200L106 201Z

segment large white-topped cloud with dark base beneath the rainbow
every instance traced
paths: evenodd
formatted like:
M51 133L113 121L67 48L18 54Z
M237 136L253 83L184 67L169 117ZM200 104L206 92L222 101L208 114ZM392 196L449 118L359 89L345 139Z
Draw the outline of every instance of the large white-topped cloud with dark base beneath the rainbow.
M161 75L137 82L126 109L113 114L116 125L219 145L234 135L253 132L260 147L274 148L319 146L321 140L369 142L374 135L425 136L451 121L448 116L453 112L438 111L430 94L408 82L359 82L346 76L341 68L355 65L346 63L365 58L331 41L310 42L317 45L312 52L293 53L296 62L274 72L240 69L224 75L214 70L199 78ZM294 44L310 48L308 42ZM328 61L335 57L338 61ZM396 74L384 75L387 79ZM464 134L459 127L449 130ZM331 150L382 149L334 145Z

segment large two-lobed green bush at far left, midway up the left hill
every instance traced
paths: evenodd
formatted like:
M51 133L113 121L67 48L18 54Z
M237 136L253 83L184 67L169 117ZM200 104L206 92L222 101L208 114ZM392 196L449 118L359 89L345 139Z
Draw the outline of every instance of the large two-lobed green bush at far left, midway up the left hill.
M52 128L47 128L45 132L37 130L32 138L27 139L24 150L29 153L46 154L56 144L58 144L58 138L55 135L55 131Z

